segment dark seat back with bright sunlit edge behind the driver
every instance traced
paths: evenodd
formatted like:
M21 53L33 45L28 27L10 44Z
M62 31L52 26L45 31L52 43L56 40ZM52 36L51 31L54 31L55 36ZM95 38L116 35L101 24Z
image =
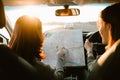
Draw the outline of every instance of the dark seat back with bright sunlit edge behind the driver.
M87 80L120 80L120 39L98 59Z

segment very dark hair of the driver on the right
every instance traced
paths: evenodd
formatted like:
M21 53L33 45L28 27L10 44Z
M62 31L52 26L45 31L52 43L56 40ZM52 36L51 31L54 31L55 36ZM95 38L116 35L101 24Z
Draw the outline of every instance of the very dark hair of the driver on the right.
M117 41L120 38L120 2L106 7L101 12L101 18L111 24L111 38Z

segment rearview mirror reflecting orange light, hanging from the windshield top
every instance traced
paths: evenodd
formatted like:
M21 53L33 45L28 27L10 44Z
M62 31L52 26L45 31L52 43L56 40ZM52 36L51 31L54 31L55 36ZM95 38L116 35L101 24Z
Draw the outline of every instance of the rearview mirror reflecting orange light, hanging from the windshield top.
M77 16L79 14L80 14L80 10L77 8L57 9L55 11L56 16Z

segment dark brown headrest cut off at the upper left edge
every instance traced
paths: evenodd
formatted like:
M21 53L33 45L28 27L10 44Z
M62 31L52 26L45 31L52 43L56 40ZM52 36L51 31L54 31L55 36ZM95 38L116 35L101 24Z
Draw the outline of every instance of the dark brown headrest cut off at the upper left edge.
M0 0L0 29L5 27L6 19L2 0Z

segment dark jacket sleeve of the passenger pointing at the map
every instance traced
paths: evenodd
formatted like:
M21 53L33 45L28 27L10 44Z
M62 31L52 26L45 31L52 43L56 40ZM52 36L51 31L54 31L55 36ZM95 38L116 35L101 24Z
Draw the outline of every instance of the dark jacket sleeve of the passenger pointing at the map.
M34 61L32 65L38 70L42 80L63 80L63 68L53 69L50 65L38 61Z

